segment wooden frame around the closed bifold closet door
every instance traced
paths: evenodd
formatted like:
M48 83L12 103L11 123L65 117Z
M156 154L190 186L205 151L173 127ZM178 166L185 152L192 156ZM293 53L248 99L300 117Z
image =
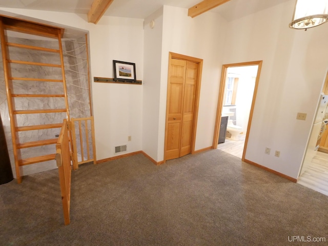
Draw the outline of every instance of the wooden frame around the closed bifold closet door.
M169 99L168 99L168 91L170 85L170 77L171 77L171 59L180 59L192 61L198 64L198 72L197 72L197 85L195 92L195 102L194 102L194 118L193 118L193 129L192 129L192 137L191 137L191 147L190 153L195 153L195 142L196 142L196 130L197 130L197 119L198 119L198 108L199 108L199 95L200 95L200 84L201 84L201 73L203 67L203 59L195 58L192 56L182 55L178 53L169 52L169 70L168 70L168 85L167 85L167 101L166 101L166 116L165 116L165 139L164 139L164 160L166 162L166 148L167 148L167 135L168 135L168 120L169 120Z

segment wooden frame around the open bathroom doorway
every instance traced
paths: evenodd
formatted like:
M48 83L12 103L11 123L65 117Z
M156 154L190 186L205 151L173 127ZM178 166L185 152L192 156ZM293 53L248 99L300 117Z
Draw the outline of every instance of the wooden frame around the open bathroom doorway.
M220 80L220 90L219 90L219 97L217 102L217 110L216 110L216 118L215 118L215 128L214 128L214 137L213 137L213 146L212 149L217 148L217 143L219 140L219 126L221 124L221 114L222 114L222 107L223 107L223 97L224 97L224 89L226 88L226 79L227 79L227 70L229 67L246 67L246 66L254 66L258 65L256 79L255 79L255 87L254 87L254 94L252 99L252 106L250 111L250 117L248 120L248 126L247 126L247 132L245 137L245 145L242 152L241 160L243 161L245 159L245 154L247 150L248 145L248 138L250 134L251 124L252 124L252 118L253 118L253 111L254 111L254 105L256 100L256 94L257 94L257 88L260 80L260 74L261 74L261 68L262 68L262 60L256 60L256 61L248 61L246 63L234 63L234 64L225 64L222 65L222 72L221 72L221 80Z

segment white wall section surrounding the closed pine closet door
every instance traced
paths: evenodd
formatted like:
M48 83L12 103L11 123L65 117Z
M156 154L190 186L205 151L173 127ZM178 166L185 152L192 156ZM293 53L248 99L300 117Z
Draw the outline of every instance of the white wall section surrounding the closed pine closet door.
M188 9L164 6L158 159L163 159L169 52L203 59L195 150L212 146L226 20L214 13L188 17Z

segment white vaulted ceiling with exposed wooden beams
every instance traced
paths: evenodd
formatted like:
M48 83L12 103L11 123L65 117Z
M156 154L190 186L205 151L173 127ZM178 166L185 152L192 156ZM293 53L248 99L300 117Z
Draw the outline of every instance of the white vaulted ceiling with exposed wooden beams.
M209 11L219 13L228 21L237 19L265 8L291 0L205 0L206 5L217 6ZM0 0L0 7L23 8L45 11L58 11L108 15L130 18L146 18L163 5L190 9L201 0ZM214 3L214 4L213 4ZM99 5L99 6L98 6ZM108 7L108 8L107 8ZM207 6L208 7L208 6ZM199 7L198 7L199 8ZM190 12L191 10L189 10ZM291 13L292 16L293 13ZM191 16L191 15L190 15ZM97 19L91 16L90 19ZM95 21L96 22L96 21Z

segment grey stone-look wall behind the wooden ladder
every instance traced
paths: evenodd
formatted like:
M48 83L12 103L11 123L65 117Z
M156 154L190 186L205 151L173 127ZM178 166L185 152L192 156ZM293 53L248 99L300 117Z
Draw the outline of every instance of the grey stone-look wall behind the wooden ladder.
M58 49L56 40L36 40L27 38L8 37L8 42L39 46L45 48ZM63 54L65 73L67 80L67 92L69 100L69 110L71 118L90 116L89 82L88 82L88 64L86 52L86 39L81 37L74 40L64 40ZM60 64L58 54L50 52L33 51L21 48L9 48L10 59L28 60L39 63ZM15 164L13 148L11 141L10 121L8 113L8 102L6 96L6 85L4 81L4 70L1 59L0 63L0 113L3 120L5 135L11 160L11 166L15 175ZM35 77L61 79L61 69L43 66L11 64L13 77ZM14 80L13 92L16 94L63 94L63 83L51 83L40 81ZM47 108L65 108L64 98L14 98L16 110L20 109L47 109ZM16 115L18 126L31 126L42 124L54 124L63 122L66 113L48 113L48 114L23 114ZM89 127L90 129L90 127ZM20 142L29 142L55 138L60 129L47 129L35 131L19 132ZM89 131L90 134L90 131ZM86 146L86 145L84 145ZM86 150L85 150L86 151ZM55 153L55 145L21 149L22 158L47 155ZM78 150L80 155L80 149ZM92 152L90 152L92 153ZM35 163L21 167L21 175L28 175L36 172L42 172L55 169L54 160ZM22 172L23 171L23 172Z

